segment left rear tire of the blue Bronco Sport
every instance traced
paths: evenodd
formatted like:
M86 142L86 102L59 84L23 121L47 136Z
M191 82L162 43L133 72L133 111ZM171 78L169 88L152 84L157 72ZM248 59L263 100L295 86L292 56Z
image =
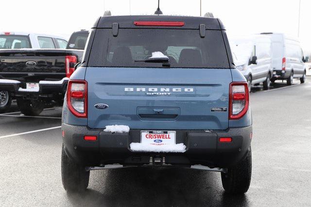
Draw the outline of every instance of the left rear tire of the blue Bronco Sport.
M66 191L82 192L88 186L89 171L70 159L62 146L62 181Z

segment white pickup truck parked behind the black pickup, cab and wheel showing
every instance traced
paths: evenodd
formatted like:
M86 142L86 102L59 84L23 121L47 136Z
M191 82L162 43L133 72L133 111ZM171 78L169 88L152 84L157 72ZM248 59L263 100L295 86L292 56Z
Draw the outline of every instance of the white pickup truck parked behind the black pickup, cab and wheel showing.
M27 48L65 49L67 43L68 38L56 35L27 32L0 32L0 50ZM0 90L0 113L6 111L11 106L11 102L12 97L10 93Z

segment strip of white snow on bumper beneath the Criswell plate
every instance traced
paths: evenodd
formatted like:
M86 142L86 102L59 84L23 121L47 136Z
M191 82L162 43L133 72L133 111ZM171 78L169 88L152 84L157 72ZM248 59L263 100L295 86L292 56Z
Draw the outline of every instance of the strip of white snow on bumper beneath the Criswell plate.
M131 143L130 148L133 151L140 152L186 152L186 146L179 144L150 144L150 143Z

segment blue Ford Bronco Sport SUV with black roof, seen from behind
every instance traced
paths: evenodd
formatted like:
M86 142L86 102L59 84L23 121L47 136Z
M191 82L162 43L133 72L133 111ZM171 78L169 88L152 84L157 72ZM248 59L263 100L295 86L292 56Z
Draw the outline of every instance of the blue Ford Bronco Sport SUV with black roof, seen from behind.
M251 180L252 115L217 18L103 16L71 75L62 116L62 181L89 171L190 167L221 172L225 192Z

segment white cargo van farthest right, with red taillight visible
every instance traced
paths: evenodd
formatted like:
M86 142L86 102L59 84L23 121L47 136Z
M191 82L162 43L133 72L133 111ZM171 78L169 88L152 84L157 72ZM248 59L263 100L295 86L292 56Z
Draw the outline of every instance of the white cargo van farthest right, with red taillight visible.
M306 81L306 62L300 42L297 38L284 33L261 33L269 35L272 41L272 66L275 80L286 80L287 85L292 85L294 78Z

